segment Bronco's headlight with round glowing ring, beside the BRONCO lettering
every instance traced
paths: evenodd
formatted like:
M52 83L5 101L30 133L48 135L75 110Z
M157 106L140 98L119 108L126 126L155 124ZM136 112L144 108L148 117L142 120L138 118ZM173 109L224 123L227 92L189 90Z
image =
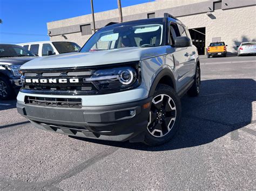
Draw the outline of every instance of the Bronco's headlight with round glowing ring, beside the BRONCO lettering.
M96 70L91 77L84 79L91 82L100 91L118 91L136 88L140 83L140 68L118 67Z

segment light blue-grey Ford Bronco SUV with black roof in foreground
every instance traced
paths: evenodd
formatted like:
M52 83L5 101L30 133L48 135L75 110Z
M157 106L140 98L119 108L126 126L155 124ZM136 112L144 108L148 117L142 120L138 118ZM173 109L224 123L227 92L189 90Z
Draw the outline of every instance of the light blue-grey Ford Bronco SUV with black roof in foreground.
M169 141L181 121L180 97L200 92L200 63L187 27L164 16L109 24L79 53L23 65L19 114L70 136Z

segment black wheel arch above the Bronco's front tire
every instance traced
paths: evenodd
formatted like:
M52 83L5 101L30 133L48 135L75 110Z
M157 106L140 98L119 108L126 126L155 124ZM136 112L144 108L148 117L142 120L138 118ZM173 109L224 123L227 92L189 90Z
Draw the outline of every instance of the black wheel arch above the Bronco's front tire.
M172 87L176 91L175 78L172 72L170 72L170 69L165 68L157 74L151 85L149 97L154 95L154 91L156 90L158 84L166 84L167 86Z

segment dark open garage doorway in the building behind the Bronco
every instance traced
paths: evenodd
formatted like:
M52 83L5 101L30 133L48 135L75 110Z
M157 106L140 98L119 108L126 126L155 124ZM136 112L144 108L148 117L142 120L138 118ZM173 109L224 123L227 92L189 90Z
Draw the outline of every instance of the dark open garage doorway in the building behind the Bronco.
M198 49L199 55L205 54L205 27L190 29L192 43Z

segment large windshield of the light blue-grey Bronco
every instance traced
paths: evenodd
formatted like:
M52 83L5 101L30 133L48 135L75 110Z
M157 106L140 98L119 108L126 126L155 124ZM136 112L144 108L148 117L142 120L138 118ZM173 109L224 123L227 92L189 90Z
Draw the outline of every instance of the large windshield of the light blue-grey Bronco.
M162 44L163 24L139 24L107 27L97 31L80 52L124 47L155 47Z

